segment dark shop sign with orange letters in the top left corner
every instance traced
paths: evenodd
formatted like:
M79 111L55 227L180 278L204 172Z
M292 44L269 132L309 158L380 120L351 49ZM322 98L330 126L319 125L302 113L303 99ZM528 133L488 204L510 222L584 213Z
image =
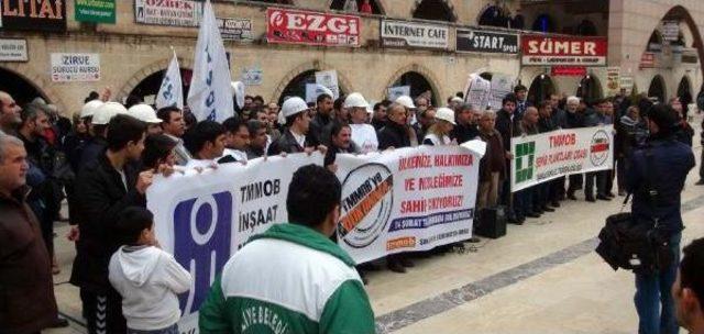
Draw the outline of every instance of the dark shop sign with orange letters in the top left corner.
M65 0L2 0L0 29L66 31Z

